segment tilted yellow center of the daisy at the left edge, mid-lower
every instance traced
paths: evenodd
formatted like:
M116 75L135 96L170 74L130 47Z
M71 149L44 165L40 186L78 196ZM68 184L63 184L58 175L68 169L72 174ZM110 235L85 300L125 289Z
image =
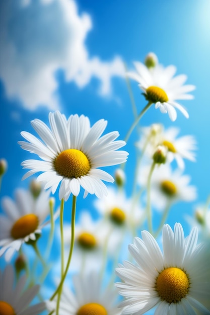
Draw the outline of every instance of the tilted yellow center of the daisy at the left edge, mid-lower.
M38 225L39 219L35 214L26 214L13 224L11 236L15 240L25 238L30 233L33 233Z

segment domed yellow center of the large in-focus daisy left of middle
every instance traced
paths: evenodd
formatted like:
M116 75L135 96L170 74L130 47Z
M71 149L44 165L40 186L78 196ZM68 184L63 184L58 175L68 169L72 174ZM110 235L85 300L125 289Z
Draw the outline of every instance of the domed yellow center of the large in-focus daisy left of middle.
M67 178L78 178L87 175L91 168L87 156L77 149L62 151L56 157L54 167L59 175Z

